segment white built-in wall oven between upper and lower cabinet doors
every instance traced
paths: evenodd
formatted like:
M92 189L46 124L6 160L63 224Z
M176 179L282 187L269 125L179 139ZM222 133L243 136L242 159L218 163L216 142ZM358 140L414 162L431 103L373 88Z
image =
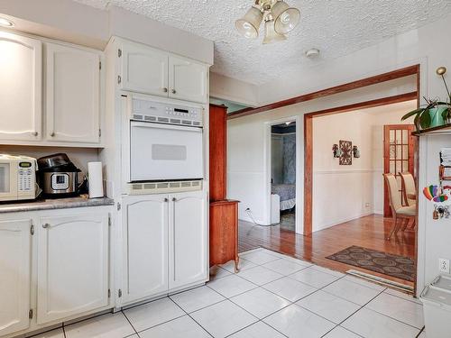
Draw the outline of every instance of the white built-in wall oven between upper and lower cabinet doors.
M204 178L203 107L128 98L131 194L201 187Z

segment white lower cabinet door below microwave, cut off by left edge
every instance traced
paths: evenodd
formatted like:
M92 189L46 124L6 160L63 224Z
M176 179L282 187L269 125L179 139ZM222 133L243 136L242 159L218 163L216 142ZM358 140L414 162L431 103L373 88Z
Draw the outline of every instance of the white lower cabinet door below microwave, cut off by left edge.
M31 224L0 222L0 336L30 326Z

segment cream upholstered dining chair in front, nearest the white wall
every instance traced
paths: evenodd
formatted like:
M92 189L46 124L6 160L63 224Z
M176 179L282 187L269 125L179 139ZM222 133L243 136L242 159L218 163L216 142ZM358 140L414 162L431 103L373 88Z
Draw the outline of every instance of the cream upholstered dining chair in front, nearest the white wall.
M393 225L391 225L390 234L387 237L387 240L390 241L393 233L396 234L399 232L400 222L404 221L406 223L409 223L410 220L415 221L417 206L402 206L400 198L400 188L398 187L398 182L396 181L395 176L393 174L383 174L383 177L385 178L385 182L387 183L391 215L393 217Z

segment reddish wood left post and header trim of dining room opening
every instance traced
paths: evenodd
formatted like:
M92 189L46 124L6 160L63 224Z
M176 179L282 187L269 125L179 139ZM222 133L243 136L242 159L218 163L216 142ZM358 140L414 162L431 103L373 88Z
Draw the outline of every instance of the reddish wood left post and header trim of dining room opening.
M304 114L304 235L311 235L313 223L313 118L328 114L342 114L357 109L373 108L381 105L392 105L417 98L417 92L410 92Z

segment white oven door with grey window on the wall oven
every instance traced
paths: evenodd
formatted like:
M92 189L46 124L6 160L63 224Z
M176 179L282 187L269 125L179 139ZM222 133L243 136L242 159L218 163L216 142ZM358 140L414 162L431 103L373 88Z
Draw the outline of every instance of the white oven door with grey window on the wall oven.
M132 122L130 180L172 180L204 177L202 129Z

